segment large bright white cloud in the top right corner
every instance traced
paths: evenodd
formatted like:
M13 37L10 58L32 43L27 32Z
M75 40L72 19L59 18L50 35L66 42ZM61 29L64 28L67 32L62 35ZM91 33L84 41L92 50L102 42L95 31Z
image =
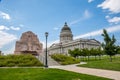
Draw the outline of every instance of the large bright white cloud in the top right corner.
M120 0L105 0L97 7L101 7L102 9L108 9L112 13L120 13Z

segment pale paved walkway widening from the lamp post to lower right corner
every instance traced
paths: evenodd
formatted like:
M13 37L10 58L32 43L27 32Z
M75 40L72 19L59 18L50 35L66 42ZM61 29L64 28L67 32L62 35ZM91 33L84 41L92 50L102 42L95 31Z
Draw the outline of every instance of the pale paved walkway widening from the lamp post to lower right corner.
M58 68L58 69L73 71L73 72L77 72L77 73L106 77L106 78L110 78L113 80L120 80L120 72L119 71L83 68L83 67L77 67L76 65L50 66L50 68Z

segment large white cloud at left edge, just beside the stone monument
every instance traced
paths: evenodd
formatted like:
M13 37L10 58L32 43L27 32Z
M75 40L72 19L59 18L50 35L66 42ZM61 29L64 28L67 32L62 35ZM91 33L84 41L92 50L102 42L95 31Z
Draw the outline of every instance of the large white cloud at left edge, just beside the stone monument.
M0 48L16 39L15 35L0 31Z

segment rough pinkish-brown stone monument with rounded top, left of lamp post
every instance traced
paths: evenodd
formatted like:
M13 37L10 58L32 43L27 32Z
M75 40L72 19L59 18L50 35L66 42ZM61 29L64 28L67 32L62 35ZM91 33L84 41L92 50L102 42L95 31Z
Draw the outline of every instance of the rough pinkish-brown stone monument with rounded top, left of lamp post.
M42 53L43 45L39 42L37 35L32 31L22 33L19 41L16 41L15 54L32 54L38 56Z

